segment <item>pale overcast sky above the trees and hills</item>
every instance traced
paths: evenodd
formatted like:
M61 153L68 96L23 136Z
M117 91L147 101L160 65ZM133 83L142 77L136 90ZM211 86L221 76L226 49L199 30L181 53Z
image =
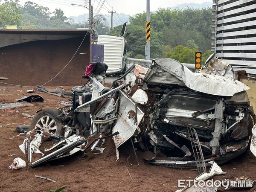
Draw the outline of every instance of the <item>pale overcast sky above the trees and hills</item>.
M20 0L20 4L28 0ZM54 11L56 8L64 11L64 14L67 17L78 16L84 13L89 13L88 9L85 9L81 6L72 6L71 3L84 5L84 0L30 0L34 3L37 3L41 6L48 7L51 11ZM95 13L100 9L102 2L104 0L92 0L93 12ZM88 0L89 2L89 0ZM173 7L182 3L203 3L203 2L212 2L212 0L151 0L150 1L150 10L155 11L159 7L167 8ZM99 6L98 6L99 5ZM98 6L98 8L97 8ZM111 7L117 13L125 13L127 15L134 15L136 13L142 13L146 11L146 0L105 0L100 13L105 14L111 10Z

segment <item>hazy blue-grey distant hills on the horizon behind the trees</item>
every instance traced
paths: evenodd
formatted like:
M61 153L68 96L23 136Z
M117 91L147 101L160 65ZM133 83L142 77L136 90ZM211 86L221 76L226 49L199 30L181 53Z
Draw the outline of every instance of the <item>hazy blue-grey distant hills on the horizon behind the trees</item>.
M183 4L179 4L177 6L173 6L173 7L169 7L169 8L170 9L187 9L187 8L202 9L202 8L208 8L208 7L212 7L211 2L183 3ZM110 16L110 14L105 14L104 16L107 20L108 25L110 26L111 25L111 16ZM124 23L124 22L128 21L128 19L129 19L129 15L126 15L124 13L115 13L113 15L113 17L114 17L113 26L120 25L121 23ZM79 15L79 16L70 16L70 18L72 18L76 23L84 22L84 18L85 18L85 20L88 20L89 14L84 14L84 15Z

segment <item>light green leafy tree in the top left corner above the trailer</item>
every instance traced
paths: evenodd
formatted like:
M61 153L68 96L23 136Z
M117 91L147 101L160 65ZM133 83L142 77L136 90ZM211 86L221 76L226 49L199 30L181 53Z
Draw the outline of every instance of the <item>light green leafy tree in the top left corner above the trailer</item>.
M0 4L0 27L6 28L6 25L20 26L22 15L19 14L17 0L5 1Z

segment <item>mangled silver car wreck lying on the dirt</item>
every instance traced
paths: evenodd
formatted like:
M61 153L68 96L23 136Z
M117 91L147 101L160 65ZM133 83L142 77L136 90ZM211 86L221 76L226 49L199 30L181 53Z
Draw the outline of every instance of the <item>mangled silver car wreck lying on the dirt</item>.
M101 65L97 67L104 69ZM224 163L247 149L256 122L247 85L193 73L169 58L153 60L144 78L133 70L131 66L108 88L103 86L105 70L94 69L87 76L91 84L74 87L71 103L39 111L30 130L64 138L98 134L94 147L112 133L117 159L119 146L129 141L135 154L135 148L145 152L149 163L197 166L199 172L212 160Z

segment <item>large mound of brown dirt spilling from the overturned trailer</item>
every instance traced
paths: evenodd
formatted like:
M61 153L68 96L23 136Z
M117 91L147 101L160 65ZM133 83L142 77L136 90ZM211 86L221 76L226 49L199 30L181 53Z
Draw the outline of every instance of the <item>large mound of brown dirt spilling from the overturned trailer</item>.
M84 37L56 41L31 41L0 48L0 76L4 83L42 85L70 61ZM47 85L79 85L90 59L90 47L83 44L70 64ZM84 54L79 54L84 53Z

